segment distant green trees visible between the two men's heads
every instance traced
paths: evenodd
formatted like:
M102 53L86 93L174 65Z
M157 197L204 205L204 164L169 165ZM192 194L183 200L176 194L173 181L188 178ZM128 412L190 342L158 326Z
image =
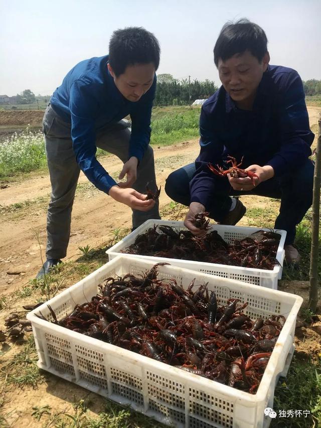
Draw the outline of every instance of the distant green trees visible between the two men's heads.
M159 74L157 76L154 105L188 105L196 99L204 99L211 96L217 86L214 82L188 79L178 80L171 74Z

